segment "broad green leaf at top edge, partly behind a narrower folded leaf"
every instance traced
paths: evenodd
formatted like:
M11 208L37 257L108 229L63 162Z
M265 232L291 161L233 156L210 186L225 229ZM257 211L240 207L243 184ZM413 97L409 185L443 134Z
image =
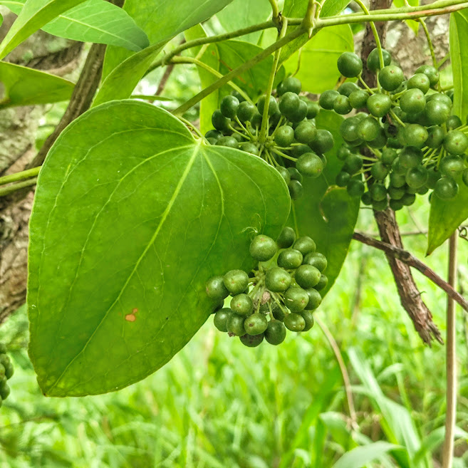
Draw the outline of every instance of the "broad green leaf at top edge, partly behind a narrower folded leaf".
M232 0L125 0L123 9L147 33L150 43L169 41L177 33L199 24ZM110 46L105 52L103 79L131 56L129 51ZM146 70L145 70L146 71ZM139 74L140 76L140 74ZM142 78L142 76L139 77ZM125 96L125 97L128 97Z

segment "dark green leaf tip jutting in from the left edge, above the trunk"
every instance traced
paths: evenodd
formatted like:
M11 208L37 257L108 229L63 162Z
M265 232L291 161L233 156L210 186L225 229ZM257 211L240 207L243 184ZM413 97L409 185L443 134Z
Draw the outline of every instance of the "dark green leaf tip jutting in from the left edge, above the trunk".
M0 109L68 100L75 86L58 76L1 61L0 81L5 90Z

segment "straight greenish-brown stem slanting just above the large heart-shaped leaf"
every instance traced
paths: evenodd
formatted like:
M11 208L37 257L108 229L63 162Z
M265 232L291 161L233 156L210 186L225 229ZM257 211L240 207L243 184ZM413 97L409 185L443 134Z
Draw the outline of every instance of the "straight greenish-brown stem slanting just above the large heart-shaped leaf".
M286 34L284 38L281 38L279 41L276 41L275 43L271 44L271 46L261 51L261 53L258 53L249 61L246 61L246 63L243 63L241 66L234 68L234 70L224 75L223 78L220 78L219 80L217 80L216 83L212 83L212 85L209 85L207 88L204 88L204 90L200 91L197 95L194 95L193 98L187 100L186 103L180 105L177 109L173 110L172 114L175 114L175 115L183 114L184 112L189 110L189 108L191 108L192 105L199 103L199 101L202 100L203 98L206 98L207 95L211 94L213 91L217 90L218 88L221 88L222 85L229 83L229 81L231 81L233 78L236 78L236 76L239 76L241 73L244 73L244 71L249 70L254 65L256 65L257 63L260 63L266 57L270 56L271 53L274 53L279 48L283 47L285 44L293 41L299 36L302 36L302 34L304 33L306 33L306 31L304 31L303 28L301 27L294 29L293 31L291 31L291 33Z

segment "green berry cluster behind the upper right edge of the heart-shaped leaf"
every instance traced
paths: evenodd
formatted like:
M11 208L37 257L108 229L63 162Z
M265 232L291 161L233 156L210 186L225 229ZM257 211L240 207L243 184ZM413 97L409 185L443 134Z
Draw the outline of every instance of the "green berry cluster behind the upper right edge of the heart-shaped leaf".
M301 81L288 77L269 96L268 129L261 135L267 96L256 105L239 93L225 96L212 115L215 130L205 138L212 145L239 148L262 157L276 167L288 184L292 199L302 196L303 176L318 177L326 165L324 153L333 147L333 135L318 130L314 118L319 106L301 93Z

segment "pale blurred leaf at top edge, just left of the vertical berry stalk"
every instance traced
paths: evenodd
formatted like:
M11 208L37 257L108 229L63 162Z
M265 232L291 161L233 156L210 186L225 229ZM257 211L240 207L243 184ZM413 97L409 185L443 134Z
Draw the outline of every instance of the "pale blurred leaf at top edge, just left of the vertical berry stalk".
M224 31L229 33L263 23L271 16L271 6L268 0L234 0L216 16ZM256 43L260 35L261 31L250 33L242 36L241 40Z

